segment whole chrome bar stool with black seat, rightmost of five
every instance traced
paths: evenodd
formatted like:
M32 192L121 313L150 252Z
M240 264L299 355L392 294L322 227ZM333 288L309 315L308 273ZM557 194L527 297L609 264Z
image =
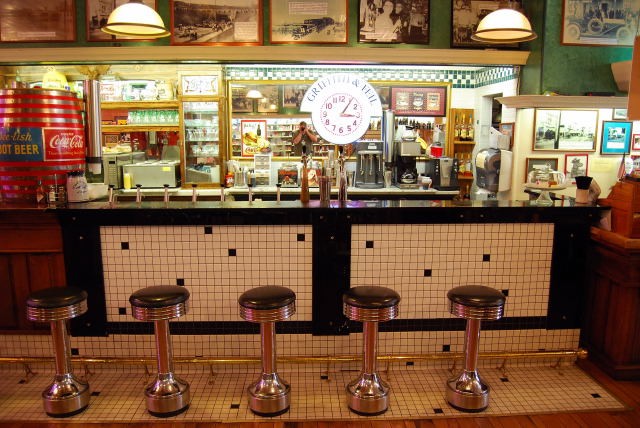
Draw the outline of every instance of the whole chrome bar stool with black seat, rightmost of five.
M489 405L489 385L477 371L480 345L480 322L502 318L505 297L498 290L483 285L463 285L447 293L449 312L465 318L464 369L447 381L447 401L465 412L481 412Z

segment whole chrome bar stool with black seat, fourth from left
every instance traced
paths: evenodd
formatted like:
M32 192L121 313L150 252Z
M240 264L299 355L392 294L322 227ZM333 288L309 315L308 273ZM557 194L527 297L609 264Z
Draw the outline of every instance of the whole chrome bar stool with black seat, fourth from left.
M364 356L360 376L347 384L347 404L354 413L375 416L389 407L389 385L376 373L378 323L398 316L400 295L390 288L353 287L342 296L347 318L363 323Z

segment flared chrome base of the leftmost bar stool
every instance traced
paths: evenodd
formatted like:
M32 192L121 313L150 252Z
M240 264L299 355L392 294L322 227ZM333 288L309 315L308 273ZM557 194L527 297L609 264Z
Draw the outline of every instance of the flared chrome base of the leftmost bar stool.
M42 392L44 411L49 416L63 418L84 411L89 405L89 384L72 373L56 375L53 383Z

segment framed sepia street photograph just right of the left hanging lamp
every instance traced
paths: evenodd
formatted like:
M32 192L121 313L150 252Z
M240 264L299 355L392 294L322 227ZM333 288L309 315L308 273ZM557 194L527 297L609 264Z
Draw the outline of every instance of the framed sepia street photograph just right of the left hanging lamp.
M171 0L172 45L261 45L262 0Z

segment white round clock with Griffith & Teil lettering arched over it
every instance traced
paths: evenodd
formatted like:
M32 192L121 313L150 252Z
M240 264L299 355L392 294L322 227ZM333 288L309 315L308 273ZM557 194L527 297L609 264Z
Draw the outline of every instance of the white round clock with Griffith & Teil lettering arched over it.
M378 93L365 79L337 73L311 85L300 111L311 112L313 127L323 140L350 144L367 132L371 117L382 115L382 106Z

